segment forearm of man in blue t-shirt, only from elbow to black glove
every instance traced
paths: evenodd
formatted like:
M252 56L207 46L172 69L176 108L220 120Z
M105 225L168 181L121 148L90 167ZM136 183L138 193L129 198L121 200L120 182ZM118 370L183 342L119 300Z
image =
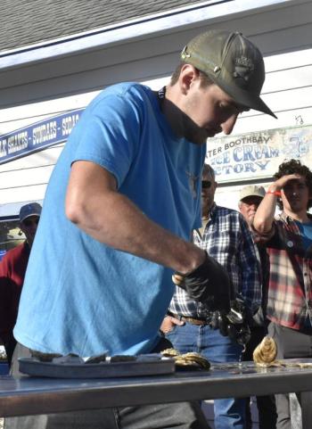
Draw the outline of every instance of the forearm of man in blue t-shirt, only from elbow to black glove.
M78 227L101 243L186 273L197 268L205 254L148 219L126 196L112 193L109 210L86 214Z

